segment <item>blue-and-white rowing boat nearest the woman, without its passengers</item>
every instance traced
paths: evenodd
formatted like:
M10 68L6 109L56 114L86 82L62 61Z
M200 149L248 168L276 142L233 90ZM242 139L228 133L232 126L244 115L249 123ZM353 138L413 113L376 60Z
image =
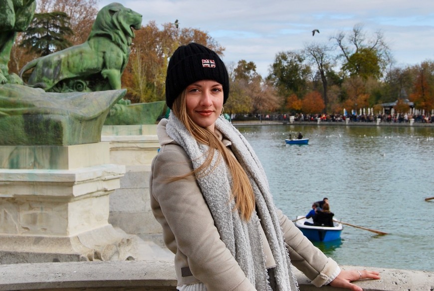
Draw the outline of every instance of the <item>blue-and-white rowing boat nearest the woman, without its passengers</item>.
M303 235L312 242L330 242L341 238L342 224L334 222L334 227L310 226L305 225L304 222L313 223L312 219L297 216L295 226L298 227Z

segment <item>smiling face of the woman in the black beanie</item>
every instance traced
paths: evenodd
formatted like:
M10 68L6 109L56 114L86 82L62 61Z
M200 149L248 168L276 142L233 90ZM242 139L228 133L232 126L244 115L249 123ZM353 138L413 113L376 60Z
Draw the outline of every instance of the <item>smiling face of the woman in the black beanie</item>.
M187 114L201 127L214 131L223 107L223 86L214 80L201 80L187 86Z

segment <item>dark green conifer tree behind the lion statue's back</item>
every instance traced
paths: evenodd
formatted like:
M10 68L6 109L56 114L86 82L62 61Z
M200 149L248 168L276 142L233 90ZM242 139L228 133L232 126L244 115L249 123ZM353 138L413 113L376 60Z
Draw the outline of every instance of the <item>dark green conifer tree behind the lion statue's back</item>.
M69 19L66 13L60 11L36 13L23 33L20 46L39 56L71 46L66 38L74 33L69 27Z

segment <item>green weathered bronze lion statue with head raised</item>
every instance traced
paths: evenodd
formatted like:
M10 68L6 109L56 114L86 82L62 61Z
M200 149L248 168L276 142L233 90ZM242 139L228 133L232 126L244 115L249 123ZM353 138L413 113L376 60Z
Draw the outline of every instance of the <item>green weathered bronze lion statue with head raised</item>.
M121 75L142 15L111 3L97 14L86 42L36 58L20 70L33 69L26 85L47 92L91 92L121 89Z

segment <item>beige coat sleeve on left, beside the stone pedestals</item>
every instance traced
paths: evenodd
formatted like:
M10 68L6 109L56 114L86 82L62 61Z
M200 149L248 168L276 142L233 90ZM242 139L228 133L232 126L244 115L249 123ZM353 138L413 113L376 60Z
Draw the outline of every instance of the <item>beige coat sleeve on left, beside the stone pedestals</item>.
M193 276L204 283L207 290L254 291L254 286L220 240L196 179L190 176L170 180L192 169L187 154L178 145L164 146L154 158L151 206L163 226L165 243L175 254L185 255Z

